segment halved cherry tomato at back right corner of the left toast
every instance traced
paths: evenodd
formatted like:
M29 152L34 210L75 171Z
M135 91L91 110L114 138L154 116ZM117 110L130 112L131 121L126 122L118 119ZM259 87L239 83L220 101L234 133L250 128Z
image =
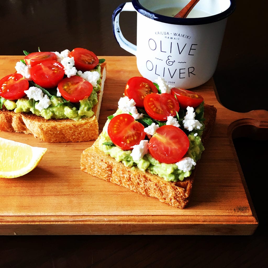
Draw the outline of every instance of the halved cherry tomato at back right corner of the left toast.
M98 57L90 50L77 47L70 52L70 57L75 59L75 68L80 71L89 71L99 64Z

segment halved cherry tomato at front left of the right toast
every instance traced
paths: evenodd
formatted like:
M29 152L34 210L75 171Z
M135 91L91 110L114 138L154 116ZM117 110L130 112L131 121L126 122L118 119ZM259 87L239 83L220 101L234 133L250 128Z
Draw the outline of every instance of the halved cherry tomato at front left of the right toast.
M132 150L145 138L144 126L130 114L118 114L108 125L111 141L122 150Z

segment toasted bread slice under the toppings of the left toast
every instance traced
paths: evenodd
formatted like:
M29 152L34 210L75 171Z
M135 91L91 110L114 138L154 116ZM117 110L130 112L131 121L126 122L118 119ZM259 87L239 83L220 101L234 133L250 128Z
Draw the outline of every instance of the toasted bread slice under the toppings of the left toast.
M104 82L106 79L106 62L101 64L101 90L98 103L92 108L94 116L72 119L45 119L28 113L15 113L0 110L0 131L23 132L33 134L45 142L85 142L97 139L99 135L98 118L101 109Z

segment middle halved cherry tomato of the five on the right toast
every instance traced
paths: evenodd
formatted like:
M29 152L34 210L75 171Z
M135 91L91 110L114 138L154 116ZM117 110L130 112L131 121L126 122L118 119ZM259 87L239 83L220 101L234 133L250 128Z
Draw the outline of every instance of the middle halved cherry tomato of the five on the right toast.
M176 98L168 93L151 93L144 98L144 109L155 120L165 121L168 116L176 116L180 105Z

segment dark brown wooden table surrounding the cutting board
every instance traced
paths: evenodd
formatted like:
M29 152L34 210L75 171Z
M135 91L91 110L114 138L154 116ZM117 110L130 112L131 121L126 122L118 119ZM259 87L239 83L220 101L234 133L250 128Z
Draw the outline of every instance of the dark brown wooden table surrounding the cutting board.
M128 56L113 37L111 15L123 1L3 0L1 55L84 47ZM230 110L268 110L266 11L237 1L214 80ZM122 13L135 42L135 14ZM268 118L267 118L268 120ZM267 129L238 130L234 144L259 219L252 236L2 236L0 267L267 267ZM226 180L231 178L226 178ZM1 221L1 215L0 215Z

